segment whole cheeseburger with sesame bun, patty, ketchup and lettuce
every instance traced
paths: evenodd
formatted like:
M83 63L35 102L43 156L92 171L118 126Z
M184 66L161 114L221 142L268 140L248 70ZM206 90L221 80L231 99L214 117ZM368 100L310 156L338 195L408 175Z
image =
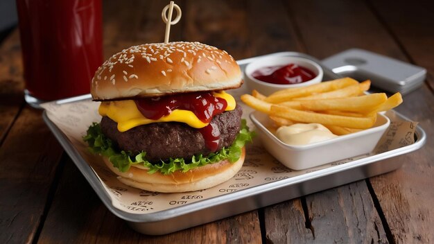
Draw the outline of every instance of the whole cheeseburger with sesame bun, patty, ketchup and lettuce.
M101 101L83 137L118 179L147 191L198 191L233 177L251 132L225 92L243 84L226 51L199 42L132 46L92 79Z

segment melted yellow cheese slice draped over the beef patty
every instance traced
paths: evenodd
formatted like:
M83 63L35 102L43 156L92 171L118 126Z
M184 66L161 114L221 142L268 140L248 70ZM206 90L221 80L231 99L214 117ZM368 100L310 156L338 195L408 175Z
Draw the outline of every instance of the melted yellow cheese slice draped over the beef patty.
M226 92L213 92L218 98L223 98L227 102L225 111L234 110L236 103L233 96ZM125 132L139 125L146 125L155 122L182 122L193 128L204 128L208 123L203 123L196 114L189 110L173 110L167 116L160 119L148 119L137 109L136 103L132 100L102 102L98 109L101 116L107 116L118 123L118 130Z

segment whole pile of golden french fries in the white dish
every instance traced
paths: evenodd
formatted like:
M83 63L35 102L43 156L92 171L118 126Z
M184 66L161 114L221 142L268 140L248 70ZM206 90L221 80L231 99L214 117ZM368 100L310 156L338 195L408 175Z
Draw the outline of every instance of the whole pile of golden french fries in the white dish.
M389 98L383 94L365 94L370 80L358 83L351 78L331 80L309 87L275 92L270 96L253 91L241 100L265 112L275 125L320 123L333 134L344 135L371 128L378 112L402 103L401 94ZM272 130L275 130L273 127Z

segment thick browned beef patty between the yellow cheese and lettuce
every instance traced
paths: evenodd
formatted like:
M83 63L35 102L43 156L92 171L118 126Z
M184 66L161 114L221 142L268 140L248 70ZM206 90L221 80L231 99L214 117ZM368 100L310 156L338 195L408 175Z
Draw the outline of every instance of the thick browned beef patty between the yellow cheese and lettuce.
M241 127L241 107L214 116L211 123L220 131L220 141L216 151L230 146ZM146 152L149 162L166 161L169 158L191 158L193 155L212 153L205 146L205 139L196 129L185 123L161 122L140 125L125 132L117 130L117 123L107 116L101 120L103 133L116 143L121 150L139 153Z

